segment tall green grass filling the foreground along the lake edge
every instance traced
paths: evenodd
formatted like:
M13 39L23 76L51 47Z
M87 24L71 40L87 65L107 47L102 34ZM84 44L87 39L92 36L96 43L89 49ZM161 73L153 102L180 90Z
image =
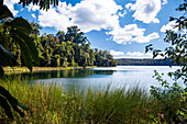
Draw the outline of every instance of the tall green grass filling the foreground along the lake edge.
M14 121L7 119L0 108L0 121L3 123L146 123L152 122L150 114L162 113L160 103L147 95L146 90L138 86L131 89L105 90L87 88L85 90L63 91L62 86L28 83L20 79L0 80L20 103L29 106L25 117L14 112Z

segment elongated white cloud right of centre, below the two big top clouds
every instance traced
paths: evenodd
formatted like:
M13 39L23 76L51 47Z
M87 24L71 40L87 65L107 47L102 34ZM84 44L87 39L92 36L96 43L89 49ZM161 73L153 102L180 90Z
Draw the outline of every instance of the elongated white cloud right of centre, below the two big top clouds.
M118 44L127 44L131 42L138 43L148 43L151 40L158 38L158 33L152 33L147 36L144 36L145 29L138 27L136 24L124 25L124 27L117 27L108 32L108 35L111 35L111 40Z

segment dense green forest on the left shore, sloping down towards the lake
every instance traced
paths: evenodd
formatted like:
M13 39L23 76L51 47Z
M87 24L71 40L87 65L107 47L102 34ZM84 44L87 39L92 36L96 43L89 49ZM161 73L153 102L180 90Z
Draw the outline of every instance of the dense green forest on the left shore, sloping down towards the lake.
M87 67L87 66L117 66L117 60L107 52L90 48L90 42L77 26L67 27L67 32L58 31L54 34L42 34L37 23L31 22L30 37L38 52L40 67ZM24 66L19 45L10 40L9 50L18 58L18 66Z

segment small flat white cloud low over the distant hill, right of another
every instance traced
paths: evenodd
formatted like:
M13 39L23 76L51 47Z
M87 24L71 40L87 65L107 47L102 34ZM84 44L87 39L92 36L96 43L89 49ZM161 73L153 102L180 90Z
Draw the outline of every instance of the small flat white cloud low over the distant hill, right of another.
M153 54L152 53L141 53L141 52L128 52L127 53L128 56L131 56L131 57L148 57L148 58L152 58Z

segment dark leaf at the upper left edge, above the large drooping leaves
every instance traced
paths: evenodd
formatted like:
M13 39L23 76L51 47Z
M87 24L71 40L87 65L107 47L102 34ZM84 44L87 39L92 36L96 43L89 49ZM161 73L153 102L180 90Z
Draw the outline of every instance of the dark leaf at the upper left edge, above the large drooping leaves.
M0 5L0 20L6 18L13 18L13 14L7 5Z

